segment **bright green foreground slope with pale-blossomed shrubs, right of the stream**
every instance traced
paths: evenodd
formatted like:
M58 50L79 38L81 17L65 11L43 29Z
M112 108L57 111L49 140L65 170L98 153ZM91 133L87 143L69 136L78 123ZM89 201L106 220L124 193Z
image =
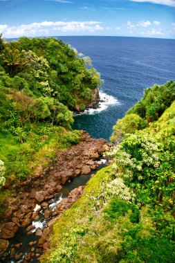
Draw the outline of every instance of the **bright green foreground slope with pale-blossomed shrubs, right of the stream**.
M174 93L174 82L164 87ZM132 109L118 121L122 141L108 152L111 165L93 176L58 219L41 262L175 261L175 102L169 100L150 124Z

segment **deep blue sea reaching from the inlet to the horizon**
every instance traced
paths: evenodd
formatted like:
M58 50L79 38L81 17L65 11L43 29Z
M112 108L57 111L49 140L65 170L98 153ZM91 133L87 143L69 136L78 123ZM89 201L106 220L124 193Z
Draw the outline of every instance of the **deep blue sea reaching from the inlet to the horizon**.
M175 40L138 37L57 37L91 57L104 84L100 109L75 116L73 129L109 140L116 120L154 84L175 80Z

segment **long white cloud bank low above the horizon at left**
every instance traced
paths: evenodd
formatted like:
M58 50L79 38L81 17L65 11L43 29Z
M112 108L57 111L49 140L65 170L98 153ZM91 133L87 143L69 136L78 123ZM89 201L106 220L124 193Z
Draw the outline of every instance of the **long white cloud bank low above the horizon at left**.
M51 35L58 33L87 33L103 30L99 21L43 21L41 23L26 24L20 26L0 25L3 37Z

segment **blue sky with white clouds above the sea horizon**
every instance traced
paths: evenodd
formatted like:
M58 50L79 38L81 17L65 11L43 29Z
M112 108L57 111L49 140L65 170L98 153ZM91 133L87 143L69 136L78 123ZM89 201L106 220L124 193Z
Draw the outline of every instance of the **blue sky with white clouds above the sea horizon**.
M175 39L175 0L0 0L0 33Z

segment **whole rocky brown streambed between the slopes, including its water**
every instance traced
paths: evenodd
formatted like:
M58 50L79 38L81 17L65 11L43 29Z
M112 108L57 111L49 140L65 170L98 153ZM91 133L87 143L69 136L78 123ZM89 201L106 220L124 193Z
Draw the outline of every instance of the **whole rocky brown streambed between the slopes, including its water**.
M54 222L81 196L93 171L105 163L100 158L108 147L106 140L83 133L80 143L58 153L49 167L14 185L22 193L1 215L2 262L38 262L49 247Z

